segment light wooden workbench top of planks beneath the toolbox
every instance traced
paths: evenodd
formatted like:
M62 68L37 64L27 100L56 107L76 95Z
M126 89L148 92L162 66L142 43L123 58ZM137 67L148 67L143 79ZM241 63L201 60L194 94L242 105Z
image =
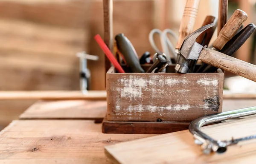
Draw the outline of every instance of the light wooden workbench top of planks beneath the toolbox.
M223 104L224 110L232 110L256 101L229 99ZM0 132L0 163L108 164L105 146L154 136L103 134L94 119L105 113L105 101L38 101Z

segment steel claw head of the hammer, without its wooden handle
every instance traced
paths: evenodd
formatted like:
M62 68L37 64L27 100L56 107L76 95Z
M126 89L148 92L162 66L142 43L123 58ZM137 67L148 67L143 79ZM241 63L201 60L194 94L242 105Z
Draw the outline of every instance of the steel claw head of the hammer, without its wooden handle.
M196 38L205 30L213 27L214 25L215 23L211 23L209 25L198 28L196 31L192 32L189 36L185 38L180 47L180 57L175 66L175 70L183 74L186 74L188 72L189 60L197 60L203 49L203 46L195 41Z

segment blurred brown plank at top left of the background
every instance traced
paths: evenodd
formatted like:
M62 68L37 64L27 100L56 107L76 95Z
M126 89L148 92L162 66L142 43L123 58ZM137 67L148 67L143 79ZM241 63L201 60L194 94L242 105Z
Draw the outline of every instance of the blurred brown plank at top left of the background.
M88 0L1 0L0 17L48 25L82 28L89 17Z

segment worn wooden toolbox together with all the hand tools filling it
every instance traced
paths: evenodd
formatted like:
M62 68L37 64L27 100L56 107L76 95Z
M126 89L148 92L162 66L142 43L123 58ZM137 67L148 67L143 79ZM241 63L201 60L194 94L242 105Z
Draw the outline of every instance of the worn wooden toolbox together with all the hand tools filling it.
M237 9L226 23L222 16L226 15L227 20L227 14L220 14L221 29L209 45L217 19L207 16L202 27L193 31L199 3L200 0L187 0L179 36L170 29L150 32L154 55L146 51L139 58L125 34L114 37L113 55L112 48L105 44L113 37L104 42L96 35L113 65L106 75L108 106L102 125L104 133L160 134L187 129L198 117L222 112L222 70L256 81L256 66L232 57L255 31L253 23L243 26L247 14ZM154 43L154 34L160 37L161 50ZM175 48L169 34L177 41Z

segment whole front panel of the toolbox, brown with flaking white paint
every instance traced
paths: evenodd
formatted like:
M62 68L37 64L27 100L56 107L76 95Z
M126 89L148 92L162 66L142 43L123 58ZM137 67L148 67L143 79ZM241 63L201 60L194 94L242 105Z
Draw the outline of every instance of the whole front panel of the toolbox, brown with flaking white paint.
M221 112L223 73L107 74L108 121L190 122ZM191 112L193 111L193 112Z

